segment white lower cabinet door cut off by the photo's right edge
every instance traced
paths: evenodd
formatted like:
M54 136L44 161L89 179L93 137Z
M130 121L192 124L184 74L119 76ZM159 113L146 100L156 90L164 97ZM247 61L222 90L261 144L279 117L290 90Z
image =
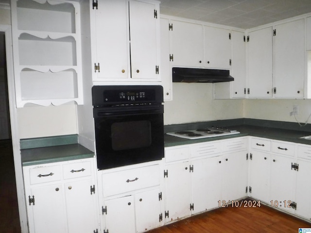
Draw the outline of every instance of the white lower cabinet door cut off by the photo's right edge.
M296 198L297 203L295 214L311 218L311 161L302 159L297 160L299 170L296 179Z

